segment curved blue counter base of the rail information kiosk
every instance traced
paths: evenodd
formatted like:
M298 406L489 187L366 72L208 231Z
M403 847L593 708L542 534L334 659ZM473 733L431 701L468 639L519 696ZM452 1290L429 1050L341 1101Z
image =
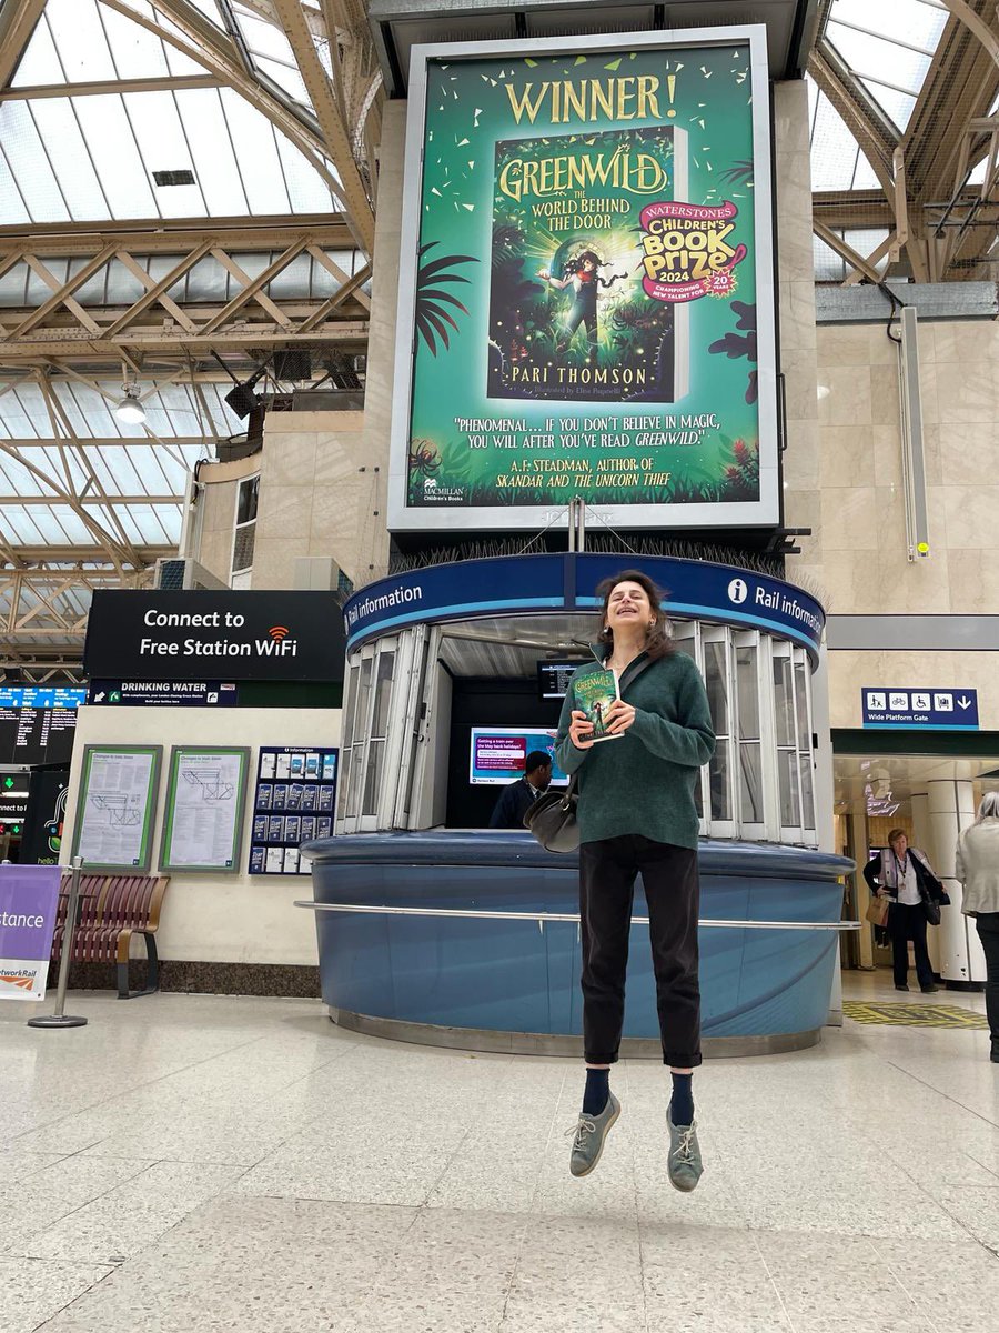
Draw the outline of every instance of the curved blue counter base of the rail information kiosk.
M322 998L344 1025L466 1048L579 1049L578 921L549 920L578 913L575 856L493 830L358 833L306 850ZM850 869L805 848L702 841L705 1054L818 1040L836 961L838 877ZM634 916L646 914L639 880ZM635 921L625 1037L645 1041L631 1053L651 1053L658 1032L647 925Z

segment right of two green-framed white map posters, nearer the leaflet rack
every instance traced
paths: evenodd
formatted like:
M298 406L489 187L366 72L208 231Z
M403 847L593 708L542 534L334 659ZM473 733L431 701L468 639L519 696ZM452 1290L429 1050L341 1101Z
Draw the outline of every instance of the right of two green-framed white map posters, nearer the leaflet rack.
M236 874L250 752L174 745L160 844L161 870Z

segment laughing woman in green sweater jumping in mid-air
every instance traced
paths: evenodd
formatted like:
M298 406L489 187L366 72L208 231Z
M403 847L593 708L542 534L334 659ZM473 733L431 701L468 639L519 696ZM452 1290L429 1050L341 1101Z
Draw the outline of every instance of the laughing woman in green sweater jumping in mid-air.
M619 698L603 713L607 738L574 708L570 685L555 758L577 773L579 918L582 928L586 1088L570 1170L587 1176L621 1113L610 1092L625 1017L625 973L638 874L649 904L663 1062L673 1074L666 1112L670 1184L697 1186L702 1173L691 1077L701 1064L698 976L698 770L714 753L705 684L693 657L675 651L662 593L626 569L598 588L603 599L597 661L610 668Z

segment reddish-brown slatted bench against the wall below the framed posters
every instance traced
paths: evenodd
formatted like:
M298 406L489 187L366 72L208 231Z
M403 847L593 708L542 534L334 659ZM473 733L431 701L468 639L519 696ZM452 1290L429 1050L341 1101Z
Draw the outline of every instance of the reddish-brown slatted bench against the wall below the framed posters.
M67 870L59 890L56 932L52 937L52 961L63 953L65 917L69 906ZM166 893L169 876L153 874L83 874L80 877L80 910L73 936L71 962L117 964L119 1000L136 1000L160 989L160 957L156 952L156 930L160 908ZM149 974L145 989L135 993L128 988L128 958L132 936L145 937Z

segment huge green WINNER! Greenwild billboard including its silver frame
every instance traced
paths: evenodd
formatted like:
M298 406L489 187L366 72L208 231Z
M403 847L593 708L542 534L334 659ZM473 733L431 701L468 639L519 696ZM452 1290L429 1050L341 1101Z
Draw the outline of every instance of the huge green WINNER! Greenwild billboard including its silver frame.
M417 47L390 527L778 519L763 29Z

